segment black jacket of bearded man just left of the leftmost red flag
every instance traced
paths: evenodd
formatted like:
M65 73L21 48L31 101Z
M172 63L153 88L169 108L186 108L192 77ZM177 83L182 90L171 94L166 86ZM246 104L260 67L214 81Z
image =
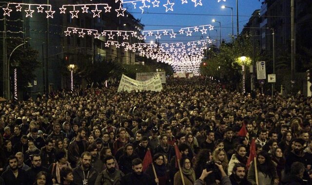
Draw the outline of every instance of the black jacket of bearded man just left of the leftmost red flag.
M141 175L137 175L132 172L121 178L120 185L152 185L152 182L153 180L148 174L142 173Z

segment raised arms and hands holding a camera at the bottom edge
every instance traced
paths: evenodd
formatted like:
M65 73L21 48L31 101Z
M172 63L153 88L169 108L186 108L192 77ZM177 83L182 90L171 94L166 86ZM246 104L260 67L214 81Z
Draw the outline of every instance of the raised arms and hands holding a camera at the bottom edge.
M229 177L226 175L224 169L223 169L223 166L221 165L220 162L216 162L214 163L214 165L217 167L217 169L220 171L221 173L221 185L232 185L231 184L231 181L229 179ZM206 168L203 169L199 179L197 179L194 183L194 185L212 185L212 184L215 184L215 182L213 183L207 183L205 181L206 177L209 177L210 174L212 174L214 172L214 170L207 170Z

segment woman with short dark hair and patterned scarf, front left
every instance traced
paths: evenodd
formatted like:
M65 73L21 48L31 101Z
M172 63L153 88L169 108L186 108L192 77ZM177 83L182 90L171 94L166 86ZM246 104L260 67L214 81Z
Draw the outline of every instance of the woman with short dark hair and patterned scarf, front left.
M64 151L59 151L56 153L55 155L57 162L56 163L52 163L49 166L49 171L52 174L52 181L53 184L60 184L61 183L61 177L60 177L60 170L63 167L70 167L69 162L67 161L67 157L66 157L66 152Z

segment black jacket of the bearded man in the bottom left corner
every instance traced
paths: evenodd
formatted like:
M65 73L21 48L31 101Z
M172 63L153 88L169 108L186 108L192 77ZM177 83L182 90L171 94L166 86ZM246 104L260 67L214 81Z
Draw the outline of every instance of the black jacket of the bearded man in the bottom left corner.
M5 185L27 185L27 174L25 170L18 169L18 177L15 178L13 171L9 168L2 173L1 177Z

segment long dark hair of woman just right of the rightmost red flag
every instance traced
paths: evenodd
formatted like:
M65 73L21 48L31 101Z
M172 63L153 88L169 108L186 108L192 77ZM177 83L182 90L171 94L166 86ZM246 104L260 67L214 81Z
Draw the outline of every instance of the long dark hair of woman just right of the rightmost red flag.
M259 155L265 158L264 164L260 164L258 162ZM274 176L276 175L276 169L272 162L272 159L270 155L268 154L268 152L265 150L260 151L259 154L257 155L257 169L260 172L262 172L265 176L268 175L270 178L274 178Z

